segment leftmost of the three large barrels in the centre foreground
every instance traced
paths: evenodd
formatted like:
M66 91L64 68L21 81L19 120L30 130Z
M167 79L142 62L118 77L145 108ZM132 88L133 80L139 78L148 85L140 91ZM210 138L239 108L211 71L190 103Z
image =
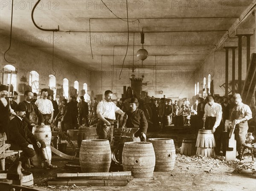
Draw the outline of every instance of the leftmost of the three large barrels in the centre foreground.
M82 140L79 152L82 172L108 172L111 164L111 149L108 140Z

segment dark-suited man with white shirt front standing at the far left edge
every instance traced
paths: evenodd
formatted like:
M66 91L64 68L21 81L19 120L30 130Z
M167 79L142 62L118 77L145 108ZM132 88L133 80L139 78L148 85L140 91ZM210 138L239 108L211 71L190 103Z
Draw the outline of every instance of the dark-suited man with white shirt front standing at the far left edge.
M10 114L16 115L16 113L10 106L7 93L7 87L0 85L0 133L6 133L7 141L9 141L9 116Z

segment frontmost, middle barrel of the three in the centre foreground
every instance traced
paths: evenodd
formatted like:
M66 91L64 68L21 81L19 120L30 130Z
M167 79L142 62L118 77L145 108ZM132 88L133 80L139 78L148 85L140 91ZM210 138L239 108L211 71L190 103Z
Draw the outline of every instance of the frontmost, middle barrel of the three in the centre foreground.
M125 142L122 152L124 171L131 171L134 178L153 176L155 153L151 142Z

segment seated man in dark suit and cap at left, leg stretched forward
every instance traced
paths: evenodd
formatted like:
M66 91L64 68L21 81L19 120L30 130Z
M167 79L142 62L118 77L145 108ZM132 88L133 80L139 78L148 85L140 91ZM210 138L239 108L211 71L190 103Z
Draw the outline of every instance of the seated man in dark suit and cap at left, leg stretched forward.
M16 114L17 116L10 122L10 143L12 148L18 148L23 151L17 160L26 162L27 159L35 156L35 150L39 150L43 168L57 168L57 166L49 162L44 141L36 140L35 136L29 130L28 124L23 121L26 114L26 107L23 104L18 104Z

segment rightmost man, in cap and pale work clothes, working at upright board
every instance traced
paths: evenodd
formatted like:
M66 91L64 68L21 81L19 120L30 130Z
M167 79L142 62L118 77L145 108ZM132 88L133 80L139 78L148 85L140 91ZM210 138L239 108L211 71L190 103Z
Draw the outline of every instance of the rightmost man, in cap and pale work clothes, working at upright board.
M242 103L239 93L236 93L233 98L235 101L235 107L233 107L231 111L230 122L232 123L235 120L236 150L238 151L237 158L240 158L243 149L242 143L245 142L246 134L249 128L247 121L252 119L252 111L248 105Z

